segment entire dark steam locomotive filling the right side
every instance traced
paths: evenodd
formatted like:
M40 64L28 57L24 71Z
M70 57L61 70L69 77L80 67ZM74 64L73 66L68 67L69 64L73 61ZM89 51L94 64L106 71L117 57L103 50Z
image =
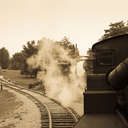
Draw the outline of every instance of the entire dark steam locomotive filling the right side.
M95 43L91 50L84 63L84 115L75 128L127 128L128 34Z

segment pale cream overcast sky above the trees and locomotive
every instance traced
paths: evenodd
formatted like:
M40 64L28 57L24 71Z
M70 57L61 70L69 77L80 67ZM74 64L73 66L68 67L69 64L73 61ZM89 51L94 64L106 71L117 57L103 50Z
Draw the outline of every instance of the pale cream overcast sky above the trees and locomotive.
M12 55L27 41L67 36L84 55L111 22L127 19L128 0L0 0L0 48Z

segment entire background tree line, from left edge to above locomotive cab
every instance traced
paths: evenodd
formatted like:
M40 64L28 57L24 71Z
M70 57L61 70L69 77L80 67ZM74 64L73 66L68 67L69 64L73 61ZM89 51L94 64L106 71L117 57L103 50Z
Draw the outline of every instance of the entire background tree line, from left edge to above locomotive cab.
M128 34L128 22L119 21L115 23L110 23L108 29L104 30L103 36L99 39L105 40L114 36ZM79 56L78 48L72 44L68 38L64 37L61 41L56 41L61 47L69 51L69 55L72 58L77 58ZM39 51L39 44L40 40L35 42L34 40L28 41L26 45L23 45L23 50L13 54L10 58L8 50L3 47L0 48L0 67L2 69L13 69L13 70L21 70L21 74L34 74L36 77L36 72L40 70L40 68L30 69L29 65L27 64L26 60L37 54ZM88 50L87 54L91 56L91 49Z

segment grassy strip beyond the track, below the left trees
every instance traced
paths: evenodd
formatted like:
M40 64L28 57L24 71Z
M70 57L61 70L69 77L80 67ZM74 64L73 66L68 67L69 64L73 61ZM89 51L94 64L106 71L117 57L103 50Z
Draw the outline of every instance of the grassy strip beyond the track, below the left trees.
M28 78L24 75L20 74L20 70L1 70L0 75L2 75L5 79L10 79L12 81L15 81L17 84L27 87L28 85L34 82L37 82L38 80L36 78Z

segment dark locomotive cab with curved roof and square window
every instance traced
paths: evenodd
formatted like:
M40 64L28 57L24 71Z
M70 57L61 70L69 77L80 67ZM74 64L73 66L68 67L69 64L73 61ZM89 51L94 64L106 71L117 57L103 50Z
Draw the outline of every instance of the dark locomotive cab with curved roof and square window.
M95 56L94 73L106 73L128 57L128 35L98 42L92 46Z

